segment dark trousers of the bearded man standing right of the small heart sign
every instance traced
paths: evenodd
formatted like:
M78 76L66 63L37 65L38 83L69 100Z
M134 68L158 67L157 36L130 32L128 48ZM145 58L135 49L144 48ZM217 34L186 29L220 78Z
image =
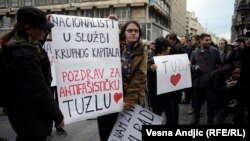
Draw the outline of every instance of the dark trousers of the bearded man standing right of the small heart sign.
M215 114L215 93L211 88L194 88L194 118L200 118L201 107L207 102L207 122L213 123Z

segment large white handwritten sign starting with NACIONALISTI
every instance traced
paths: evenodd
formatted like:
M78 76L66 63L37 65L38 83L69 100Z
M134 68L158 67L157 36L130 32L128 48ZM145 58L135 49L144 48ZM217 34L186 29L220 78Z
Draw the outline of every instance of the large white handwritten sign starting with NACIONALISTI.
M123 107L118 22L53 15L59 105L71 123Z

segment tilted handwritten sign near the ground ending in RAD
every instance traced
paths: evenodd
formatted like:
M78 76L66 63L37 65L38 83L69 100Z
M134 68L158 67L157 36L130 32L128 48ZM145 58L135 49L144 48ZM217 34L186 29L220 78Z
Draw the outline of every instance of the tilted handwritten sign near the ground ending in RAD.
M108 141L140 141L142 125L160 125L162 117L134 105L119 114Z

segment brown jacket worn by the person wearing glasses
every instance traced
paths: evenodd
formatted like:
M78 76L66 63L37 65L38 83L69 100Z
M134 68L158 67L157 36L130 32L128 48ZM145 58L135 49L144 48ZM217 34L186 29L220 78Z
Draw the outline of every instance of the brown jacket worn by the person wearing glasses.
M126 49L125 42L120 42L120 48ZM129 76L123 76L124 101L131 104L144 105L145 84L147 78L147 55L142 42L133 46L131 51L131 68Z

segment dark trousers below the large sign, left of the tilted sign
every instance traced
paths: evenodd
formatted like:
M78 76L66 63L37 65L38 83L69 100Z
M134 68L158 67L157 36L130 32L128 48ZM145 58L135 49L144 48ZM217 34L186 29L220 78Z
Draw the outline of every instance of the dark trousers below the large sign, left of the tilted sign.
M115 125L118 113L112 113L97 118L99 136L101 141L107 141Z

